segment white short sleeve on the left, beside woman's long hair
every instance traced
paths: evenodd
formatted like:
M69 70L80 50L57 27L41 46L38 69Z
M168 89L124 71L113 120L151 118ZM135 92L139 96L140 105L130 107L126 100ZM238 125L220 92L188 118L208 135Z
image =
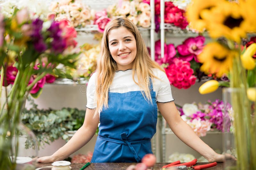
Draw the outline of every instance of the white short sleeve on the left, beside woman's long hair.
M94 109L97 107L97 101L95 99L95 73L92 74L86 88L86 98L87 104L86 107L89 109Z

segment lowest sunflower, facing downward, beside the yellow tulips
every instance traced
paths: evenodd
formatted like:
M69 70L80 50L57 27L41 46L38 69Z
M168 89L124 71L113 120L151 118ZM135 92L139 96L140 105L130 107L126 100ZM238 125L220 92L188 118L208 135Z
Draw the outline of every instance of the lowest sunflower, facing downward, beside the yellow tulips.
M200 70L205 74L216 74L217 77L221 77L224 73L228 73L232 67L232 59L236 53L236 51L229 50L218 42L209 43L197 56L199 62L203 63Z

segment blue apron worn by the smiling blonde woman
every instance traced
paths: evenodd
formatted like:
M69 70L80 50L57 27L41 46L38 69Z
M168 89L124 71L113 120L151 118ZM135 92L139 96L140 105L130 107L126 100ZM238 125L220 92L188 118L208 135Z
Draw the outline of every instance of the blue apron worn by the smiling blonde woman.
M150 93L153 104L141 91L108 92L108 108L100 113L91 162L140 162L152 153L150 139L156 133L157 106L151 81Z

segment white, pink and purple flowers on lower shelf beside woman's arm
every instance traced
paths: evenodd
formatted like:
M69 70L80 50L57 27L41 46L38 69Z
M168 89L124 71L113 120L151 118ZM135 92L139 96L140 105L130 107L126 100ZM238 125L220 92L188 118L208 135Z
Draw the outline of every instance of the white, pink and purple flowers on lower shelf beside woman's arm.
M223 110L225 107L223 101L215 100L202 103L186 103L179 108L180 116L199 136L205 136L207 131L223 131ZM230 124L227 124L230 126Z

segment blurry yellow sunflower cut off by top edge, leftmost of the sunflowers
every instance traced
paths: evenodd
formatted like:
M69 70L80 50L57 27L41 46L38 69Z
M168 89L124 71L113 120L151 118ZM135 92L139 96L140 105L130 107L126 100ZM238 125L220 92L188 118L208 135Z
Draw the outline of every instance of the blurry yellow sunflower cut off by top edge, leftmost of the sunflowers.
M190 26L199 31L203 32L206 27L206 21L201 16L202 11L208 11L224 0L193 0L187 8L186 17Z

